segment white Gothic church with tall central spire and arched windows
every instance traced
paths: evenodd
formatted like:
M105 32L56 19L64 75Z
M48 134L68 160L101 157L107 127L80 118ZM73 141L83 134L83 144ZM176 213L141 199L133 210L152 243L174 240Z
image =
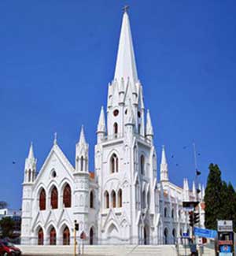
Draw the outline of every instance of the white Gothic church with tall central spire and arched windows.
M87 244L169 244L189 232L183 201L197 200L188 180L172 184L164 147L160 169L153 144L153 125L138 80L131 28L124 11L114 79L107 106L101 107L94 172L88 170L88 144L83 131L72 165L53 142L36 175L31 145L24 167L21 243L68 245L82 232ZM157 180L157 171L160 180ZM201 187L201 186L200 186ZM204 187L200 225L204 226Z

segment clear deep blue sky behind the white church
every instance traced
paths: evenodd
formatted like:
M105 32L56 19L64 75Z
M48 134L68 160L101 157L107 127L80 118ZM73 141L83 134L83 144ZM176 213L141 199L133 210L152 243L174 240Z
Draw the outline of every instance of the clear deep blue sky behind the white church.
M185 176L192 180L195 141L201 181L214 162L236 185L235 1L1 1L0 200L10 207L20 208L31 141L38 170L54 132L74 164L84 124L94 169L95 131L114 72L124 4L131 6L158 164L164 144L170 179L179 185Z

